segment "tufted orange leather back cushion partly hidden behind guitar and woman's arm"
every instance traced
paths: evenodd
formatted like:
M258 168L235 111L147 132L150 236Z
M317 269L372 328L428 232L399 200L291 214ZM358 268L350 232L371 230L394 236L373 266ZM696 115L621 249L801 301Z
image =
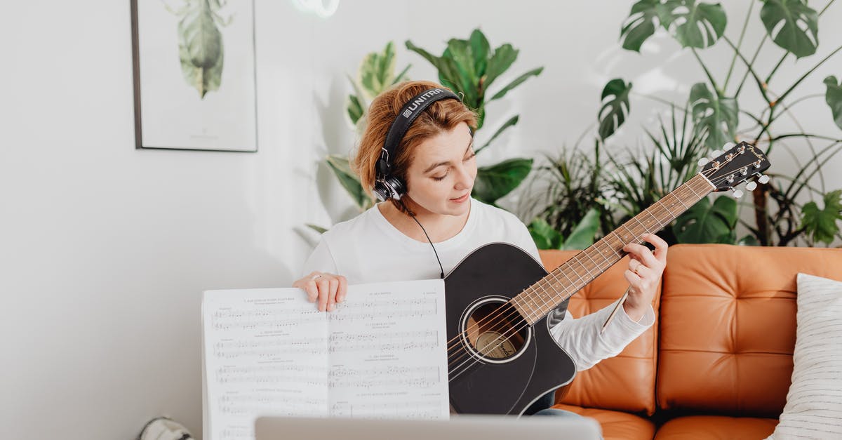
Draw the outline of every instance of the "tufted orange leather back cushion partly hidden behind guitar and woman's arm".
M547 271L555 269L577 253L577 250L540 251ZM628 286L623 278L627 266L628 259L624 258L576 292L568 305L573 317L590 314L620 298ZM593 368L577 373L568 393L563 397L561 393L557 394L557 403L642 412L651 416L655 410L658 294L655 296L654 309L656 322L652 328L632 341L616 357L605 359Z

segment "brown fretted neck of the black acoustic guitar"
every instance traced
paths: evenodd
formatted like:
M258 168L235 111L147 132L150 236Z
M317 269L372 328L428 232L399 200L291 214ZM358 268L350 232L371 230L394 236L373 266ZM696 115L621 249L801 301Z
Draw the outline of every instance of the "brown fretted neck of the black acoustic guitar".
M621 260L626 255L623 251L626 244L641 243L643 235L657 233L714 189L715 186L710 180L701 173L696 174L684 185L623 223L620 228L606 234L588 249L573 255L573 258L558 266L549 275L526 287L509 303L520 312L526 322L530 325L535 324L573 296L573 293Z

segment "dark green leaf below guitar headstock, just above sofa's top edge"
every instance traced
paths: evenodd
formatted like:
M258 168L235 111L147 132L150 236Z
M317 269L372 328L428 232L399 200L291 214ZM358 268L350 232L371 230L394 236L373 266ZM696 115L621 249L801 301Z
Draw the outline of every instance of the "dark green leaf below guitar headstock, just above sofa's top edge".
M717 197L711 205L707 197L675 219L673 231L679 243L733 243L737 224L737 201Z

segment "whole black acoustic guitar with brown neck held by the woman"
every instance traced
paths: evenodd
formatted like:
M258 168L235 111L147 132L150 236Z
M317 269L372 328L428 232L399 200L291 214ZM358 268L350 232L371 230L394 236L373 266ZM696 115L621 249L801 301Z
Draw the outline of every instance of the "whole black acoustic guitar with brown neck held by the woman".
M487 244L445 277L450 405L459 413L520 415L542 395L569 384L576 365L549 332L547 315L711 191L735 190L769 161L742 142L616 231L547 273L525 251ZM754 189L754 181L747 189Z

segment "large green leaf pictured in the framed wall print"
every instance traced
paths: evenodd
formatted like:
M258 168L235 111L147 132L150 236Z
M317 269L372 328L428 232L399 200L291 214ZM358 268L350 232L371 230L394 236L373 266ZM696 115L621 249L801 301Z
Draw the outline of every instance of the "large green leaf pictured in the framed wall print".
M181 72L201 99L219 89L222 80L222 34L214 20L216 11L210 3L200 2L179 21L179 59Z

